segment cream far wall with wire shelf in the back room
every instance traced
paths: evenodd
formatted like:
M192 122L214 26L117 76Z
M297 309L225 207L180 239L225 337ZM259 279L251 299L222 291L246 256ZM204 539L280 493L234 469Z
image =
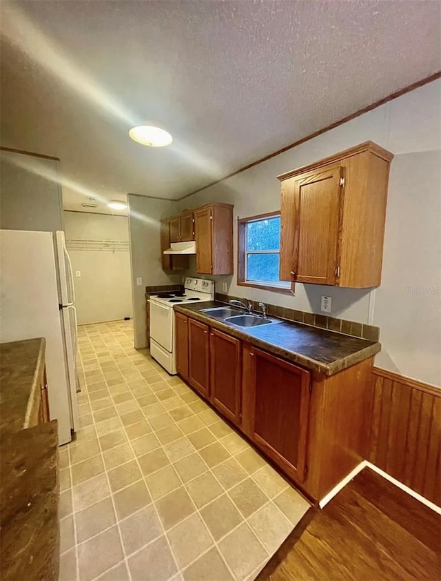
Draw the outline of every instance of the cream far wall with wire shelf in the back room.
M132 317L129 228L126 216L65 211L79 324ZM125 250L73 250L72 239L119 240ZM90 245L81 243L82 247ZM76 271L81 277L76 277Z

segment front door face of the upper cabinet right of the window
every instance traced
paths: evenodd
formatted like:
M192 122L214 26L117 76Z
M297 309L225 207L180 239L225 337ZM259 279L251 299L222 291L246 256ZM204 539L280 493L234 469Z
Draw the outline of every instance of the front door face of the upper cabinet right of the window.
M282 280L336 284L341 177L342 168L334 166L283 184Z

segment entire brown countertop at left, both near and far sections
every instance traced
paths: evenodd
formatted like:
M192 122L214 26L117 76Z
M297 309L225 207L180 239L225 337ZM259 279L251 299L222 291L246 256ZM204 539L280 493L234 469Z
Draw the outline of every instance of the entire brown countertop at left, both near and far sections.
M39 424L45 339L0 344L0 578L57 581L57 420Z

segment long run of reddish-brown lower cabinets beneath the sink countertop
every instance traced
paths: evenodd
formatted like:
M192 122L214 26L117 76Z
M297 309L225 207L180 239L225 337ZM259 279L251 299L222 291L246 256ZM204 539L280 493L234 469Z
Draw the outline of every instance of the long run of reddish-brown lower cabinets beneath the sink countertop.
M373 357L328 377L176 313L176 358L181 377L311 500L367 458Z

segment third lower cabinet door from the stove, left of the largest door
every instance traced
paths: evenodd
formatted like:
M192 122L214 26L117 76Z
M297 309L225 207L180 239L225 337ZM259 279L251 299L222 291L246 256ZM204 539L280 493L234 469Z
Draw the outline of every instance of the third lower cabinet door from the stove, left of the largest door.
M242 354L235 337L210 329L210 398L223 415L240 424Z

